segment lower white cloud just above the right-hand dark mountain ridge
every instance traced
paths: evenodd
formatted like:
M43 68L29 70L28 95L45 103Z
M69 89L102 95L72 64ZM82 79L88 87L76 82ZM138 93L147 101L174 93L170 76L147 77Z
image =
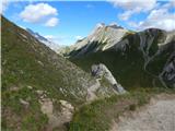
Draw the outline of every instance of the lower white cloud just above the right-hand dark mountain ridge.
M156 27L165 31L175 29L175 13L167 9L152 10L145 21L139 23L139 28Z

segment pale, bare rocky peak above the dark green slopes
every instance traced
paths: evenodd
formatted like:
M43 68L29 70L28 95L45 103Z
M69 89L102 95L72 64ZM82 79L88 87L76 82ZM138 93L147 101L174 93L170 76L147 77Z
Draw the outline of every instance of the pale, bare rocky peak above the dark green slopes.
M79 39L77 44L69 48L67 47L62 52L65 55L70 52L71 57L78 57L90 52L103 51L118 43L126 33L132 32L116 24L105 25L104 23L98 23L88 37Z

